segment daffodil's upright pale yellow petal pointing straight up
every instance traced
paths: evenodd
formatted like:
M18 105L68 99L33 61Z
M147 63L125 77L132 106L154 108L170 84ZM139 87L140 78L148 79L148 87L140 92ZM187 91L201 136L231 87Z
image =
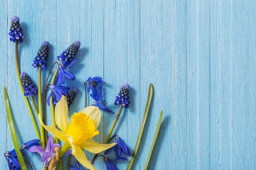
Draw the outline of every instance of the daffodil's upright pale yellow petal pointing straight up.
M62 96L60 101L55 106L55 122L63 133L67 133L68 129L68 107L67 107L67 97Z

